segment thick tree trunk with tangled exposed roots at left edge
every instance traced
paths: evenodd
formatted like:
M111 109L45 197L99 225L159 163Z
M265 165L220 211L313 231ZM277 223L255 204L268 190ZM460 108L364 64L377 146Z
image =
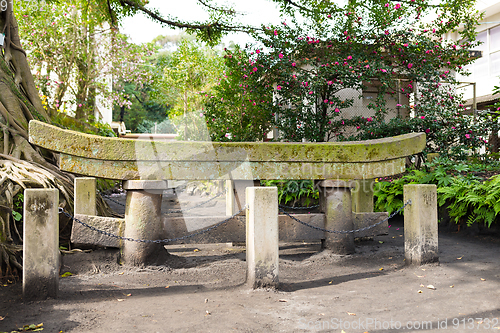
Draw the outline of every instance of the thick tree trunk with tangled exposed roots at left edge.
M57 188L60 206L73 212L74 176L55 165L55 158L28 142L28 123L32 119L50 122L42 106L22 49L12 2L0 12L0 28L5 33L0 54L0 279L22 272L19 264L22 242L22 219L14 215L21 210L23 190L30 187ZM108 215L109 207L100 198L98 211ZM17 220L19 220L19 215ZM70 221L61 219L60 227L68 229ZM17 272L16 272L17 270Z

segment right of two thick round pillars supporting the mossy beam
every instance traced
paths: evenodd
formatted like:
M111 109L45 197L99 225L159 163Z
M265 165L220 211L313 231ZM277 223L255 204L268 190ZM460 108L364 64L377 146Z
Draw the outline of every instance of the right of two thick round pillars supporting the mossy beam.
M354 183L344 180L323 180L318 183L320 209L325 214L325 229L353 230L351 188ZM351 254L354 235L325 232L323 248L336 254Z

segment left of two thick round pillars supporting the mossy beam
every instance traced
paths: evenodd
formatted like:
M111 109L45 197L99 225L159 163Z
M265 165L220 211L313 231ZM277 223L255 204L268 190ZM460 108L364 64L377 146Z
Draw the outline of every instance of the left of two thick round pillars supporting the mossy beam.
M157 240L165 236L161 220L162 193L168 188L162 180L128 180L125 205L125 237ZM124 241L122 259L132 266L163 264L168 256L165 244Z

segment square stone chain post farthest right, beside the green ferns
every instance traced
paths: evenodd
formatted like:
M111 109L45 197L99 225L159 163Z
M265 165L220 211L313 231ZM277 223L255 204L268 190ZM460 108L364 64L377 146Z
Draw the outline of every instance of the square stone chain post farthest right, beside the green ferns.
M436 185L409 184L403 187L405 207L405 262L423 265L439 261Z

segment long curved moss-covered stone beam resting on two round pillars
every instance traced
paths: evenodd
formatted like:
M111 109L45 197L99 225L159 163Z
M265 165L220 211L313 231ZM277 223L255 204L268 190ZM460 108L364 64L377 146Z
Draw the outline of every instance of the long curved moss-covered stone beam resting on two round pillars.
M62 170L110 179L360 179L404 171L424 133L328 143L161 142L106 138L31 121L30 142Z

